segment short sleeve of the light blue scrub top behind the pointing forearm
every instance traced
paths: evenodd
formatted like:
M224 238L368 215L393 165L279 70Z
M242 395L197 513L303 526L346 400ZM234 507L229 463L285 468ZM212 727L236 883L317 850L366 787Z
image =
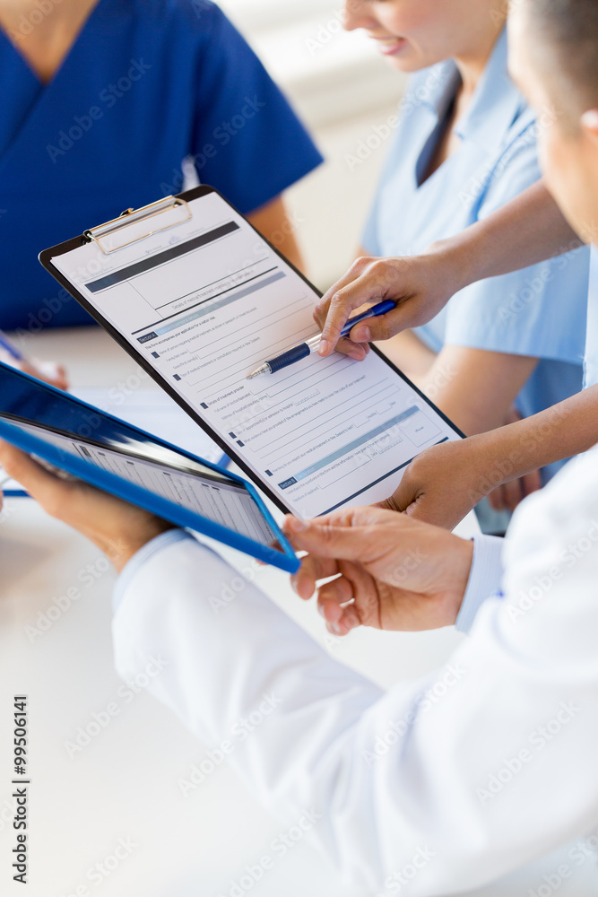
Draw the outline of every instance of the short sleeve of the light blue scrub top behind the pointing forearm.
M529 126L498 162L474 217L486 218L541 177ZM587 248L473 283L448 306L445 343L579 364L585 351Z

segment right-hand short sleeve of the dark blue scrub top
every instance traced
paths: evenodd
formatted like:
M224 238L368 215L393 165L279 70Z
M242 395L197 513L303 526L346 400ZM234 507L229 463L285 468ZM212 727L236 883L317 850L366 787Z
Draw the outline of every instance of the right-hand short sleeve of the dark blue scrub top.
M204 184L247 214L316 168L322 156L245 39L217 7L211 12L199 20L212 30L197 74L195 168Z

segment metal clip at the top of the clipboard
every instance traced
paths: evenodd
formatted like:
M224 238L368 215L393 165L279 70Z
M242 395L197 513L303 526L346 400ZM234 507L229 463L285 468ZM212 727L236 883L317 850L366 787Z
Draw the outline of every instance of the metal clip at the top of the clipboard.
M160 221L157 222L155 219L159 216ZM171 227L188 222L191 217L191 210L184 199L165 196L157 203L143 205L140 209L126 209L119 218L84 231L83 237L89 241L94 240L104 255L108 256L111 252L151 237L154 233L168 231Z

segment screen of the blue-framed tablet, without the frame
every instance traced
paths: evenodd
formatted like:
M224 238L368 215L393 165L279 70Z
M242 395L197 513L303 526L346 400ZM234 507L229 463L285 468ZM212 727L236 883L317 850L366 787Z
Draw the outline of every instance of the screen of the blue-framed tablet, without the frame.
M141 486L254 542L276 539L243 483L143 434L55 394L12 370L0 370L0 420L88 464Z

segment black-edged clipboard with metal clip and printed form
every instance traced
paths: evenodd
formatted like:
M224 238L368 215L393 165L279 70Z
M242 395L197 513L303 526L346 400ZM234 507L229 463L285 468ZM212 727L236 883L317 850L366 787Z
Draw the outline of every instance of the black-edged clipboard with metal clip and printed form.
M251 262L252 253L254 257L260 257L260 262L263 262L261 266ZM241 263L247 261L247 257L251 264L243 267ZM273 309L285 312L282 323L276 322L277 327L280 325L280 334L278 331L274 333L274 336L281 337L279 345L282 351L292 342L300 341L295 339L291 342L290 335L284 329L286 318L290 318L291 313L295 314L293 309L299 308L300 327L304 331L306 327L311 328L311 334L316 332L311 309L321 293L212 187L195 187L138 210L127 209L118 218L43 251L39 260L91 317L221 446L242 472L285 512L299 517L314 517L348 506L349 503L380 501L394 492L404 468L423 448L439 441L464 438L455 424L373 345L370 346L368 359L363 362L348 360L340 354L325 360L317 356L304 359L286 372L271 375L267 384L264 380L255 384L252 387L254 392L249 395L245 376L243 371L239 372L237 362L239 352L245 351L247 343L247 321L254 326L256 321L259 324L271 319ZM225 274L229 270L229 262L234 270L227 279ZM218 267L220 264L221 268ZM197 272L195 283L192 275ZM206 272L212 274L208 276ZM235 280L236 277L238 280ZM170 300L173 290L175 299ZM300 299L297 299L299 294ZM234 306L233 301L236 303ZM110 302L112 305L108 307ZM137 321L134 309L138 306L140 309L152 309L155 312L153 317L143 311ZM255 319L249 314L254 306L258 316ZM184 353L186 344L193 343L189 333L198 331L200 325L203 327L205 317L212 311L215 323L212 330L207 328L205 332L213 332L210 338L215 343L221 342L226 350L221 357L230 356L230 364L221 361L215 379L210 379L208 370L204 379L198 374L193 380L188 370L178 373L175 362L170 363L172 353L169 354L164 345L172 341L171 344ZM120 317L123 315L130 315L137 323L127 320L125 324ZM200 323L198 316L203 316ZM155 324L154 319L157 321ZM221 329L217 330L218 327ZM176 339L170 333L174 333ZM265 358L273 357L270 344L267 352L265 348L259 349L259 345L265 344L272 335L270 324L265 324L262 330L257 325L254 327L251 336L259 354L251 362L247 361L247 373L255 370ZM156 351L152 352L152 349ZM253 351L251 346L248 351ZM206 365L209 368L212 361L204 363L207 357L204 350L197 352L196 370L202 371ZM340 383L335 390L341 396L338 407L328 387L321 387L323 379L327 378L332 383L333 375L325 369L326 366L332 368L333 364L338 369L334 376ZM344 370L349 364L357 365L354 377L353 373ZM320 367L316 370L315 365ZM195 377L195 370L191 372ZM301 443L301 433L311 432L312 420L307 425L302 423L308 420L304 413L311 411L311 405L305 404L304 396L297 398L296 395L292 401L298 407L297 426L292 429L294 423L291 423L291 429L281 430L279 417L274 422L275 426L265 428L264 433L260 433L265 446L264 457L269 449L268 433L272 431L273 446L284 447L287 436L290 446L299 443L300 451L296 453L295 460L291 463L284 458L281 463L268 465L262 463L260 458L257 463L253 447L256 445L254 435L259 414L255 409L261 398L256 399L256 396L262 395L259 389L267 393L268 389L278 387L282 383L282 374L286 374L288 379L285 382L290 384L305 383L309 379L310 383L316 383L316 392L328 390L327 404L323 406L324 414L320 417L325 423L331 421L333 431L322 430L322 421L319 421L313 445L308 436ZM230 377L236 379L230 380ZM279 379L274 381L275 377ZM373 398L368 402L357 395L355 389L347 387L348 379L359 380L362 377L366 378L370 389L376 386L376 378L380 382L384 380L383 392L386 390L388 401L383 401L381 393L371 392ZM233 417L238 426L225 426L224 420L226 418L228 421L229 417L218 417L217 410L223 402L221 396L205 396L203 400L201 395L195 395L212 381L215 384L212 389L214 396L216 387L225 383L230 383L231 395L238 393L241 405L243 396L247 396L244 405L249 409L247 414L245 417L243 414ZM192 388L195 389L193 395ZM308 395L312 393L314 389ZM224 395L229 394L225 392ZM359 405L359 411L351 420L353 397L357 403L355 408L358 409ZM231 401L235 401L234 396ZM274 402L274 405L271 417L276 416L280 403L277 405ZM336 414L341 407L344 417ZM356 422L356 417L359 417L359 422ZM377 426L369 427L370 418L372 421L376 418ZM343 439L345 433L347 436ZM397 446L401 448L392 457L400 460L386 465L386 458L382 456L389 452L386 457L390 458ZM320 447L325 448L320 450ZM299 463L297 458L305 460ZM372 471L371 475L369 470ZM345 482L337 485L342 478Z

